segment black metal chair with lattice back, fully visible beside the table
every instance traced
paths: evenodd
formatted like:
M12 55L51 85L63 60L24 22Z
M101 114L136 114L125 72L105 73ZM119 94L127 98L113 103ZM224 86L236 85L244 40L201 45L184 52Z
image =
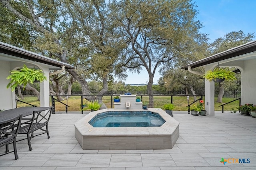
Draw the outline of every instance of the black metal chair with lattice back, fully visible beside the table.
M30 151L32 150L30 141L33 137L47 133L48 139L50 138L49 131L48 131L48 122L52 115L52 109L53 107L49 107L48 109L34 111L32 118L22 119L22 120L25 120L25 122L21 123L21 127L18 134L27 135L27 138L25 139L28 140L28 147ZM46 129L42 129L43 127L46 127ZM44 131L44 133L34 135L34 131L37 131L37 130L42 130ZM24 139L21 139L19 141L22 141L22 140Z

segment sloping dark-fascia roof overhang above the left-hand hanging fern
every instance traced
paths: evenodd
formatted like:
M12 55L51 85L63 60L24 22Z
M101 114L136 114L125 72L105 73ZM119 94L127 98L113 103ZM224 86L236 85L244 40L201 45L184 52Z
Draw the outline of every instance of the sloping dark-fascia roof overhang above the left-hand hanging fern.
M65 69L72 69L70 64L45 57L6 43L0 42L0 60L2 61L33 61L49 66L49 70L59 70L62 66Z

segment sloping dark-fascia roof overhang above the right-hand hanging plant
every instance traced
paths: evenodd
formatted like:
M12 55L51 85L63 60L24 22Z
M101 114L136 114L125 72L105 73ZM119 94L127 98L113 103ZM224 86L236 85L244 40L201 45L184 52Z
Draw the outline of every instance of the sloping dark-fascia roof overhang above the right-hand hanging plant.
M233 57L237 57L240 55L252 53L256 51L256 41L251 41L249 43L246 43L244 45L240 45L238 47L234 47L232 49L229 49L227 51L212 55L210 57L206 57L204 59L201 59L199 61L196 61L194 63L190 63L186 66L181 67L181 69L188 70L188 66L191 66L191 68L196 68L200 66L204 66L211 63L216 63L219 61L231 59Z

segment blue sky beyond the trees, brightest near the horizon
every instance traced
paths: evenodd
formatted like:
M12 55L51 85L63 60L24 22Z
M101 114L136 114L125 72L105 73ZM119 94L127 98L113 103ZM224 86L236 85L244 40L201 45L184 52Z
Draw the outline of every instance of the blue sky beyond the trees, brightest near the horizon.
M232 31L256 32L256 0L193 0L198 10L197 20L204 25L201 33L209 34L209 43ZM255 34L254 34L255 35ZM256 38L254 38L256 40ZM156 73L154 83L161 76ZM128 73L126 84L146 84L148 73Z

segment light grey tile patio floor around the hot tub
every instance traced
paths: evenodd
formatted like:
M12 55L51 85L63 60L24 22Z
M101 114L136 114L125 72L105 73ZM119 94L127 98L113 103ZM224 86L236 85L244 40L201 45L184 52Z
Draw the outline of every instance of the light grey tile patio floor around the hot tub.
M1 156L0 170L256 169L256 118L218 111L214 116L174 111L173 118L180 122L180 137L173 149L82 150L74 137L74 123L85 115L53 114L50 139L46 135L34 137L32 151L26 140L18 142L19 159L14 160L13 153ZM249 158L250 163L223 165L221 158Z

